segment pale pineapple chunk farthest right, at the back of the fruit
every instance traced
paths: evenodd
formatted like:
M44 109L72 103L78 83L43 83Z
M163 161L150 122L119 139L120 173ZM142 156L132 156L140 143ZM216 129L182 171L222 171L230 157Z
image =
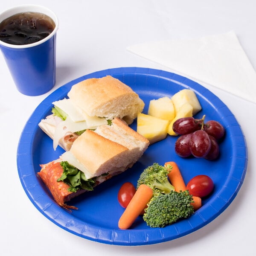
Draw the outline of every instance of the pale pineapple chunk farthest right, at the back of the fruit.
M175 95L173 95L171 99L174 105L176 115L180 111L180 108L185 102L188 102L192 106L193 116L202 109L198 101L198 98L195 95L195 92L193 90L189 90L189 89L180 90L179 92L175 93Z

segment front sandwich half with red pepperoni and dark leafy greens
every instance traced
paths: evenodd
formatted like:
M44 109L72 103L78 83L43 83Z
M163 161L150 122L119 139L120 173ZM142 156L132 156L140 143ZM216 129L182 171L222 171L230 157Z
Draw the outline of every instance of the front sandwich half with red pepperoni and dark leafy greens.
M145 137L123 120L114 118L111 125L84 131L69 151L57 160L42 164L38 175L58 205L77 209L67 202L131 168L148 145Z

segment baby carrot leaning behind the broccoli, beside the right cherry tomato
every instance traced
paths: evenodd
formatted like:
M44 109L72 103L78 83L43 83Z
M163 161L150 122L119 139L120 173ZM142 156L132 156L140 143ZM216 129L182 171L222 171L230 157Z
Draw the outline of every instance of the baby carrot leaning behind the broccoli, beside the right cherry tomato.
M181 175L179 167L175 162L167 162L164 164L165 167L167 167L168 165L172 166L172 170L171 172L169 172L168 177L172 185L175 187L175 191L185 191L186 185Z

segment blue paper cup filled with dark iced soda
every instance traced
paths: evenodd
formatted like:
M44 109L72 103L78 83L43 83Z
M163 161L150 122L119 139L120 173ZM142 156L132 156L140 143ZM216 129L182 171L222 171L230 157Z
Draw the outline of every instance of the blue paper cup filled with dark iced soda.
M43 6L0 14L0 49L20 93L37 96L54 86L57 29L56 15Z

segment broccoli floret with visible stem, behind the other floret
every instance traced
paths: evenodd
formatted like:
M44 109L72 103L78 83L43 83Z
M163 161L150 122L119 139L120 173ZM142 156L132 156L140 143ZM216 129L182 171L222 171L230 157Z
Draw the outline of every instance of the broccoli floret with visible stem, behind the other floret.
M168 180L168 173L170 169L160 166L158 163L154 163L152 166L148 166L140 175L137 181L137 188L141 184L145 184L153 189L153 197L163 193L167 194L172 190L175 190L174 186Z

